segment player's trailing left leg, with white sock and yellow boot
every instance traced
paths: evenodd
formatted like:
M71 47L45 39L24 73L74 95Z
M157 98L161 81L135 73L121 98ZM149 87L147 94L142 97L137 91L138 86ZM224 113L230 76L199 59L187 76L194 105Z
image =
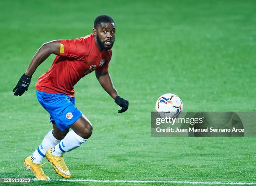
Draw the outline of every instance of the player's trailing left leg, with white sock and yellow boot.
M47 135L44 137L42 143L38 146L35 152L28 156L24 161L24 166L31 170L38 180L49 180L50 178L45 175L41 161L45 157L46 150L55 147L56 144L62 140L67 133L69 132L69 128L64 131L59 130L56 126L55 122L52 123L54 130L50 130Z

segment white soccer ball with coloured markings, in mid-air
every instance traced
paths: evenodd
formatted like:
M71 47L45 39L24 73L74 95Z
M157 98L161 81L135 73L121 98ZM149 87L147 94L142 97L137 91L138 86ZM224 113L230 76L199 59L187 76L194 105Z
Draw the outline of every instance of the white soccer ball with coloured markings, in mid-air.
M156 101L156 112L161 118L178 117L182 110L182 100L175 94L164 94Z

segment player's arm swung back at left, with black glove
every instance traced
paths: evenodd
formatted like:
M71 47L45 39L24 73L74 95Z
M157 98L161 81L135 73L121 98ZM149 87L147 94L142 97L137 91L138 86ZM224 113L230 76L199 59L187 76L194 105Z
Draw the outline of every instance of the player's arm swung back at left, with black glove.
M36 71L36 68L44 62L51 54L60 55L61 41L54 40L48 43L44 43L33 56L26 72L20 77L18 84L13 89L15 96L21 96L25 91L28 90L28 86L31 81L31 77Z

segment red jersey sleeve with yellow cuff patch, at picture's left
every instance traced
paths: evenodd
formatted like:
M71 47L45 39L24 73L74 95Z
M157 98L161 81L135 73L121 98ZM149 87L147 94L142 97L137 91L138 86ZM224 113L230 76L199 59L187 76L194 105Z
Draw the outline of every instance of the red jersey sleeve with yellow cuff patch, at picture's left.
M86 54L87 46L83 38L61 40L60 56L82 59Z

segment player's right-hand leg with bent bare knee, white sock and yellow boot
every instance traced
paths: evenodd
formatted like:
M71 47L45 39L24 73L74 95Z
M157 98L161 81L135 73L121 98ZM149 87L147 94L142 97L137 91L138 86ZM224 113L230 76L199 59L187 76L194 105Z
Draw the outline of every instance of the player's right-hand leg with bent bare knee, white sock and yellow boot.
M70 178L71 174L64 162L63 154L81 146L92 135L92 124L84 115L70 125L70 128L73 130L69 131L59 144L46 152L47 160L56 173L64 178Z

